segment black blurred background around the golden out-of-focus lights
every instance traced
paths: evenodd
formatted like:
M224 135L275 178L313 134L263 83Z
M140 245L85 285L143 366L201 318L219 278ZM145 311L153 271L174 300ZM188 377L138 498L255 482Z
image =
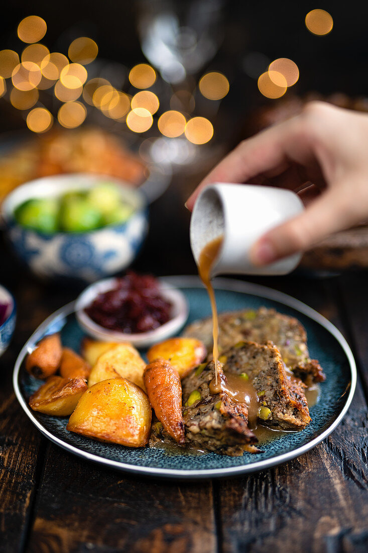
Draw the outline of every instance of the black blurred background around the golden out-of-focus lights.
M149 5L159 7L161 3L151 0ZM174 2L178 11L184 12L190 4ZM330 34L316 36L307 30L304 19L314 8L325 9L332 15L334 27ZM39 0L31 7L29 2L20 0L8 6L7 15L2 19L0 48L13 48L20 53L24 44L17 38L17 25L22 18L35 14L46 20L48 31L42 42L51 51L66 54L71 40L87 35L97 41L99 60L117 61L130 68L145 61L137 32L142 9L145 9L142 2L127 0ZM221 102L211 145L219 146L223 155L244 137L247 118L257 107L275 104L275 100L261 95L256 79L244 70L244 58L252 51L264 54L269 60L291 58L298 65L299 80L283 99L309 92L319 92L324 96L343 92L351 97L364 97L367 20L368 4L355 1L320 2L317 5L303 1L224 1L222 44L214 59L197 75L201 76L206 70L219 70L230 81L230 92ZM27 130L23 117L4 98L0 99L3 132ZM207 160L194 173L186 170L175 174L170 189L151 206L151 231L134 264L136 269L156 274L196 272L188 239L190 217L183 203L215 161Z

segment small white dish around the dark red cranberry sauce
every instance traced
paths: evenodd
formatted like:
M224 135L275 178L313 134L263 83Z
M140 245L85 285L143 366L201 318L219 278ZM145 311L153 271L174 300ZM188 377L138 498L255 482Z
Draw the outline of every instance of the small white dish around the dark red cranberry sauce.
M76 300L75 310L77 320L81 327L93 338L108 342L130 342L136 347L144 348L175 335L185 324L189 313L189 306L185 295L180 290L172 288L164 280L160 280L161 294L165 300L170 301L172 304L172 317L170 321L154 330L138 334L124 334L123 332L108 330L108 328L98 325L87 315L85 307L91 305L99 294L112 290L117 285L117 282L117 278L99 280L88 286Z

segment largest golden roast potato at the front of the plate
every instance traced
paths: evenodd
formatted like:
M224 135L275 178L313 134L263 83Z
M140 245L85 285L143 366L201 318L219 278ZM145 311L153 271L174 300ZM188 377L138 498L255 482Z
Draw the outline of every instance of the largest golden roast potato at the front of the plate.
M96 440L141 447L148 441L151 418L143 390L125 378L111 378L82 395L66 429Z

